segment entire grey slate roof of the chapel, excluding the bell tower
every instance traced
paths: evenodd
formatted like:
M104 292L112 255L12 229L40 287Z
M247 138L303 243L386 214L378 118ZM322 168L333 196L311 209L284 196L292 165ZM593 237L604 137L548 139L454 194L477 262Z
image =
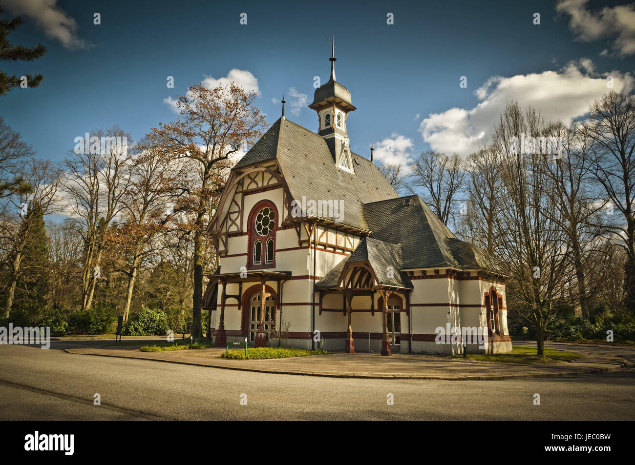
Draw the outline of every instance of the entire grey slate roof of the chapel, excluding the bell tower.
M399 270L495 270L485 251L457 239L418 195L399 197L375 164L351 155L354 174L337 167L322 136L280 118L233 168L275 159L293 199L342 200L341 219L333 211L319 216L370 231L316 287L337 285L345 264L356 261L370 262L382 284L409 289L410 279ZM386 275L389 266L392 278Z

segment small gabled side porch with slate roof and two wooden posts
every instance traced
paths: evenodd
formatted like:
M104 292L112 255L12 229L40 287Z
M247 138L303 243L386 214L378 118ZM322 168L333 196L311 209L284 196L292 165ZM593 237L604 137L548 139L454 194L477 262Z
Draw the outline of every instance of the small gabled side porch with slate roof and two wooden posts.
M320 294L320 305L325 294L339 292L344 296L344 314L348 315L347 336L344 350L354 353L351 311L353 296L371 296L375 302L375 292L384 299L382 310L382 355L391 355L388 334L388 298L391 294L403 292L410 298L412 282L401 272L401 244L390 244L382 240L364 237L358 247L343 259L333 270L316 284Z

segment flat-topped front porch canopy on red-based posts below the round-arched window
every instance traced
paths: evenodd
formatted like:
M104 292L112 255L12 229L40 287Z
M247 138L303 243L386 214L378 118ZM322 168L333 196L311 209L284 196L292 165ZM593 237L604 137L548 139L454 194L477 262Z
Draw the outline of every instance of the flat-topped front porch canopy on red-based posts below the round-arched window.
M266 344L266 334L264 331L265 318L265 283L267 281L277 282L277 295L281 296L281 285L291 276L291 272L274 272L269 270L243 271L238 273L221 273L220 267L212 275L208 275L208 282L205 291L203 308L205 310L216 310L216 301L218 299L218 284L223 285L222 294L220 296L220 319L218 321L218 331L216 332L217 347L224 347L227 344L227 332L225 332L225 301L227 299L236 299L238 301L238 310L241 311L241 302L243 299L243 282L260 282L262 284L262 300L258 310L258 331L256 333L255 345L264 346ZM238 283L238 294L227 294L227 284ZM213 300L213 302L212 302ZM276 310L279 308L279 298L276 300ZM211 321L211 318L210 318ZM210 332L211 334L211 332Z

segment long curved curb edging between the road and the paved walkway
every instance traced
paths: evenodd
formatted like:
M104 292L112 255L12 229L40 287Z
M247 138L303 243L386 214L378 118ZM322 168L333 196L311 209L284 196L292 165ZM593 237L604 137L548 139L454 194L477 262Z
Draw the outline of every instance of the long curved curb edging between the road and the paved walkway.
M217 368L222 370L248 371L248 372L256 372L256 373L266 373L266 374L288 374L288 375L295 375L295 376L319 376L319 377L354 378L354 379L419 379L419 380L424 379L429 381L504 381L509 379L539 379L539 378L551 378L551 377L580 376L580 375L594 374L594 373L610 373L610 372L620 371L625 366L630 365L630 363L628 362L626 363L612 362L613 366L598 367L596 369L580 370L577 372L505 374L505 375L491 375L491 376L490 375L425 376L425 375L404 375L404 374L372 375L372 374L302 372L302 371L289 371L289 370L267 370L267 369L245 368L245 367L229 367L227 365L215 365L213 363L193 363L193 362L183 362L180 360L164 360L162 358L130 357L128 355L113 355L113 354L105 354L105 353L79 353L79 352L74 352L73 350L75 349L64 349L64 352L69 353L71 355L95 355L97 357L134 358L136 360L150 360L150 362L178 363L180 365ZM575 363L575 362L570 362L570 363ZM601 363L601 364L607 365L608 363Z

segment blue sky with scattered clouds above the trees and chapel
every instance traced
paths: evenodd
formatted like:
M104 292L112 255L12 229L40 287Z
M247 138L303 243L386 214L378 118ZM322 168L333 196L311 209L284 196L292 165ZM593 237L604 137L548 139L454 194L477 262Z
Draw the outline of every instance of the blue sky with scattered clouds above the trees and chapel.
M607 75L617 90L632 91L635 74L635 7L625 2L57 1L53 15L50 3L0 0L5 17L25 18L11 41L48 48L35 62L0 63L9 74L44 75L39 88L0 97L0 115L53 160L76 136L112 124L140 138L177 117L164 99L232 69L257 79L271 124L283 93L288 105L302 95L308 104L314 76L328 80L331 33L337 80L358 107L348 119L351 147L368 157L375 143L389 162L428 148L469 153L511 99L552 119L577 119L607 90ZM317 128L305 105L287 117Z

